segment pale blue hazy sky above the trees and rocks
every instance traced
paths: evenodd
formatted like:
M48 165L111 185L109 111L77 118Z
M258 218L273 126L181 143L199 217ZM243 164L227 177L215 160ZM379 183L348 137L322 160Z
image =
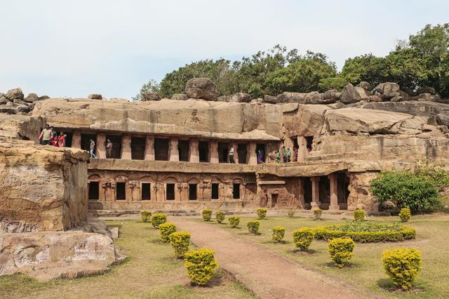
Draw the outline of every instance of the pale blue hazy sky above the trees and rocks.
M275 44L348 57L386 55L449 1L0 0L0 91L130 98L194 60Z

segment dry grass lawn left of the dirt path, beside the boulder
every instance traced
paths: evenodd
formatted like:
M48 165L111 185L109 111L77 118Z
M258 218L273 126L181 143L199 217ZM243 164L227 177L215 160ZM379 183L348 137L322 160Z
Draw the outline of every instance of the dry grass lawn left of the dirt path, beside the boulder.
M192 287L184 263L169 244L159 241L159 230L140 220L121 224L116 247L128 259L95 277L40 282L25 275L0 277L0 298L253 298L245 288L218 271L211 286Z

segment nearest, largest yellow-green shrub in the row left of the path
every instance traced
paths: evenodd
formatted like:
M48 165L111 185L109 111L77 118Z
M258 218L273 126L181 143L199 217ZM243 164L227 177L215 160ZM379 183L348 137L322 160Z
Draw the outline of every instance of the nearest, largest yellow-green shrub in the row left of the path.
M208 248L199 248L196 251L187 251L184 255L187 276L192 283L199 286L207 284L218 267L213 251Z

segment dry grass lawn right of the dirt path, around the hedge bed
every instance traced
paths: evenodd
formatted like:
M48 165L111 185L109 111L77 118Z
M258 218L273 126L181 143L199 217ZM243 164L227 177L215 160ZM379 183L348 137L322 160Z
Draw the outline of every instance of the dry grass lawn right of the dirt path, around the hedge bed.
M239 227L232 229L225 225L216 225L245 239L262 244L268 248L298 260L303 265L332 274L351 284L380 293L390 298L449 298L449 215L417 215L406 224L415 227L417 239L398 243L357 243L354 258L343 269L333 267L328 253L327 241L314 240L309 252L296 252L292 243L292 232L300 227L333 225L343 220L314 220L312 218L269 217L260 220L260 235L252 235L246 229L246 223L254 218L242 217ZM396 217L374 218L394 222ZM213 223L213 222L210 222ZM276 225L286 227L286 242L274 244L272 230ZM422 271L415 289L410 292L394 291L387 274L382 268L382 251L391 248L417 248L422 252Z

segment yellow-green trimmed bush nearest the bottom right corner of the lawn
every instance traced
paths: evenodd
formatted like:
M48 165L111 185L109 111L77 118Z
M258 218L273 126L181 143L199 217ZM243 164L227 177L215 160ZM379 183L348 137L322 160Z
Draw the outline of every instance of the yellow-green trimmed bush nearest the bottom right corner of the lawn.
M410 289L421 270L421 253L416 249L396 248L382 253L384 270L395 286Z

